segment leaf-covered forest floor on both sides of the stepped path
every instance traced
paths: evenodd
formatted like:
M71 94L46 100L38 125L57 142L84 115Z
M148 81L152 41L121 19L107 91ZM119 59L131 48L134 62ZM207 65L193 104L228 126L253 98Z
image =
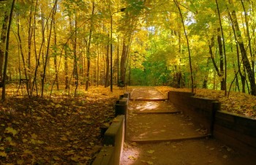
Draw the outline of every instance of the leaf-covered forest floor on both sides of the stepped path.
M156 88L164 94L189 91ZM100 127L110 125L114 103L125 90L91 87L79 90L75 98L59 91L51 99L28 99L16 91L7 91L7 100L0 103L0 164L89 164L102 145ZM230 93L227 98L222 91L209 90L196 95L218 99L222 110L256 117L255 96Z

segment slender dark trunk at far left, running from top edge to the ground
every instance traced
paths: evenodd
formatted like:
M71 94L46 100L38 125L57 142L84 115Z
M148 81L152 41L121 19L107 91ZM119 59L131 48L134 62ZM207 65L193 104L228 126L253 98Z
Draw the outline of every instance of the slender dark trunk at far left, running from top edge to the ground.
M12 0L12 7L10 10L10 16L9 16L9 23L7 28L7 42L5 46L5 54L4 54L4 77L3 77L3 89L1 93L1 99L5 100L5 80L7 78L7 64L8 64L8 55L9 55L9 39L10 39L10 31L11 31L11 24L12 24L12 13L15 5L15 0Z

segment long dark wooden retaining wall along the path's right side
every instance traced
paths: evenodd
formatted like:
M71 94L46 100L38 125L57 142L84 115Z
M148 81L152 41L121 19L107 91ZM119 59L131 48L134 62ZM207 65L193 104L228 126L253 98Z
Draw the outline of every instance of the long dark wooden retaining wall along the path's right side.
M168 99L178 110L205 126L214 138L256 156L256 120L220 109L219 102L192 93L170 91Z

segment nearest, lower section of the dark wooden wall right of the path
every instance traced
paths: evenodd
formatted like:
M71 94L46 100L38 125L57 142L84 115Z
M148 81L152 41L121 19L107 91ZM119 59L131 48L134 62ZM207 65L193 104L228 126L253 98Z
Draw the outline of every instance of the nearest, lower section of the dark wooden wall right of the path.
M229 112L216 112L214 137L256 156L256 120Z

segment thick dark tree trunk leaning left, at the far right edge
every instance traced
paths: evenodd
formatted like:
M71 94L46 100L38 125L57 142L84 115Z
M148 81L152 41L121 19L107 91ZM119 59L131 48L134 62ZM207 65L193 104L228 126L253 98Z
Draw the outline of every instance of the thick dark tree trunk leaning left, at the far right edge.
M232 0L230 0L230 4L233 4ZM249 63L249 59L247 57L246 49L244 47L243 38L241 36L241 31L240 31L240 28L239 28L239 25L238 25L238 20L236 18L236 11L233 10L231 12L231 17L232 17L232 20L233 20L233 25L234 25L235 30L236 30L236 37L237 37L238 45L239 45L240 50L241 50L242 61L243 61L244 67L245 67L246 72L247 72L248 77L249 77L249 82L250 82L250 87L251 87L251 94L253 96L256 96L255 73L254 73L254 70L252 70L252 67Z

